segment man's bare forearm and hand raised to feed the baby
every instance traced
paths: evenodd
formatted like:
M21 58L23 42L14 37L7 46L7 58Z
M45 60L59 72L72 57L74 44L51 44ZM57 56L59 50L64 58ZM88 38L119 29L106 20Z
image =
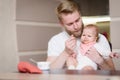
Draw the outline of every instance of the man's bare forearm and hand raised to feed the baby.
M71 36L65 42L65 49L59 56L48 56L47 61L50 62L51 69L61 69L64 67L68 57L72 55L76 46L76 38ZM53 51L54 52L54 51Z

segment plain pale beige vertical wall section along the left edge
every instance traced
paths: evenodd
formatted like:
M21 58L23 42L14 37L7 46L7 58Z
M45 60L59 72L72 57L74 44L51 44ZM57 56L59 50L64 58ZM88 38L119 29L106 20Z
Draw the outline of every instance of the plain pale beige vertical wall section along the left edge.
M16 71L15 0L0 0L0 72Z

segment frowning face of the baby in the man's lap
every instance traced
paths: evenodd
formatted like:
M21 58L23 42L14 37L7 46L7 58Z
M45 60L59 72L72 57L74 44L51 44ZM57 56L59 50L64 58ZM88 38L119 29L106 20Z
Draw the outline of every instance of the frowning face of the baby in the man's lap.
M88 44L97 40L96 31L93 28L85 28L81 36L81 42Z

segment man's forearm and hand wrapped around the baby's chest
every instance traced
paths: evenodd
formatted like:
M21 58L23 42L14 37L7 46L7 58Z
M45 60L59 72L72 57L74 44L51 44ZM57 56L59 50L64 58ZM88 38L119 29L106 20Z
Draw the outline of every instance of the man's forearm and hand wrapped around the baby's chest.
M115 70L112 59L104 59L94 47L87 52L86 56L94 61L100 70Z

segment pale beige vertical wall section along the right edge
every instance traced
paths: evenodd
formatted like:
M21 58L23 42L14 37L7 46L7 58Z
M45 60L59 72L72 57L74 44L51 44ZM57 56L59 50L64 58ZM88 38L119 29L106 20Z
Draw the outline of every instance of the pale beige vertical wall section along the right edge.
M110 0L110 33L113 49L120 49L120 0Z

